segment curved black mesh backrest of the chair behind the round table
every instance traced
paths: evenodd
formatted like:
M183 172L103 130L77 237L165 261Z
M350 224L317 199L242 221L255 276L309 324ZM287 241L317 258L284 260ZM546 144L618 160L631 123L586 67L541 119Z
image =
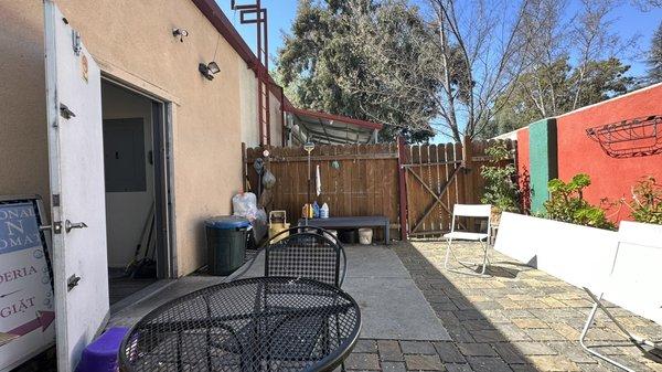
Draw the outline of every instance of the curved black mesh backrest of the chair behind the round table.
M312 228L312 231L311 231ZM273 236L265 247L265 276L302 277L340 288L346 257L340 242L320 227L292 227ZM274 242L276 237L281 237Z

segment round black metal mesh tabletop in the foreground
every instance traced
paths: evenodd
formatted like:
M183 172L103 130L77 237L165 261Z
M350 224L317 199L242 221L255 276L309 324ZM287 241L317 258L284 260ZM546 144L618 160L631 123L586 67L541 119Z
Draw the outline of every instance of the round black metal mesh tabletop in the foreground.
M325 371L352 350L356 301L320 281L260 277L207 287L142 318L121 371Z

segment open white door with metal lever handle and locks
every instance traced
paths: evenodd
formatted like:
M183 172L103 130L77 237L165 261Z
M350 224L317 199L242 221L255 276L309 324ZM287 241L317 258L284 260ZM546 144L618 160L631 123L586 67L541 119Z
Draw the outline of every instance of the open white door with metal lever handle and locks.
M52 0L44 15L57 363L70 372L109 311L102 83Z

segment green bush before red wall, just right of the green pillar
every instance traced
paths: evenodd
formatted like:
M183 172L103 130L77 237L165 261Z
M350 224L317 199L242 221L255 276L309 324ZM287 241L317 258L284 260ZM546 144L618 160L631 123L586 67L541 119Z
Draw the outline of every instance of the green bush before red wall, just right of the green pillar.
M590 185L590 177L579 173L569 182L554 179L547 184L549 200L545 202L548 219L578 225L616 230L605 210L584 200L584 189Z

